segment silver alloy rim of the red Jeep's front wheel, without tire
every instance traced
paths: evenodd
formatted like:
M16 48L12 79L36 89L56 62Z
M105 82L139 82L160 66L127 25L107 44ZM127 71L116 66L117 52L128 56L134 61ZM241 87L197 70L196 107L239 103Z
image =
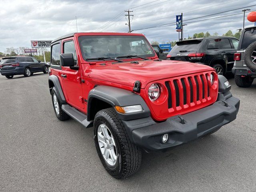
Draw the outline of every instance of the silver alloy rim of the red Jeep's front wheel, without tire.
M117 160L116 144L109 128L105 124L98 126L98 144L104 160L114 166Z

